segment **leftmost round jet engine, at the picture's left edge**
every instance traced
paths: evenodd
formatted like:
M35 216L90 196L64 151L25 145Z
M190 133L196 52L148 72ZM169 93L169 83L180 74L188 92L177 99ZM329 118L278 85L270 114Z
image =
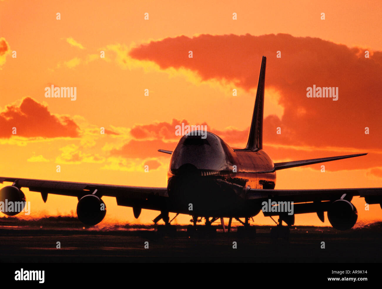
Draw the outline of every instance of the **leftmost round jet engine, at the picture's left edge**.
M25 195L15 186L0 189L0 210L7 216L15 216L24 210Z

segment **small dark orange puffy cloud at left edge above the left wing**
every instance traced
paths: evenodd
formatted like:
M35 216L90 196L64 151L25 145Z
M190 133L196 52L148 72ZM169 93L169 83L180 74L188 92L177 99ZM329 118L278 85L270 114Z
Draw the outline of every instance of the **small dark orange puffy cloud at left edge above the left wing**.
M79 136L79 127L68 116L56 116L47 106L31 97L21 101L20 106L11 104L0 112L0 138L10 138L16 128L16 136L44 138Z

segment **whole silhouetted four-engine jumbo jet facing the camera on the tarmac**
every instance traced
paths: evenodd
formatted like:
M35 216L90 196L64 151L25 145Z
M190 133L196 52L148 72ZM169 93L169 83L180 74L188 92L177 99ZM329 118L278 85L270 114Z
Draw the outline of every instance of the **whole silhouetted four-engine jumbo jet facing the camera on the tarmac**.
M139 217L142 209L160 211L153 221L156 224L163 220L165 225L157 227L157 231L162 233L176 231L169 219L170 212L176 216L186 214L192 217L190 222L193 225L187 227L189 235L199 231L216 232L216 227L211 224L219 218L224 231L223 218L229 218L229 232L235 218L243 225L238 226L237 233L254 237L256 228L249 224L249 219L260 211L271 218L278 216L277 225L271 229L273 238L288 238L289 227L295 224L295 214L316 213L324 222L324 212L327 212L333 228L352 228L358 218L352 198L364 197L368 204L380 204L382 208L382 188L274 189L277 170L364 156L366 153L274 163L262 149L265 64L266 57L263 56L245 148L231 148L211 132L193 131L182 136L173 151L159 149L162 153L171 154L165 188L0 177L1 183L12 182L0 190L0 201L25 202L21 188L41 193L44 202L48 194L75 196L78 198L78 219L92 226L104 219L106 209L102 197L110 196L117 199L119 206L132 207L135 218ZM277 210L262 209L263 202L269 200L272 200L272 208ZM293 202L293 214L278 210L285 202ZM205 225L197 225L202 218Z

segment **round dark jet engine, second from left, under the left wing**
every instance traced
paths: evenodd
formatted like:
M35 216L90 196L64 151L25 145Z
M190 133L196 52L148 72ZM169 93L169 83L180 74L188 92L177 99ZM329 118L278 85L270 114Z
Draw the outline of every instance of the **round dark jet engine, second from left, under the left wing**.
M86 195L77 204L78 219L85 225L94 226L101 222L106 215L104 201L95 195Z

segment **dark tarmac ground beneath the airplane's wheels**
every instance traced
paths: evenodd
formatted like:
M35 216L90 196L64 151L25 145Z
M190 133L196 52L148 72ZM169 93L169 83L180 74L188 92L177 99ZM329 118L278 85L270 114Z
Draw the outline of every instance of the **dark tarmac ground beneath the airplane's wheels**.
M197 234L190 238L186 226L178 226L173 236L163 236L153 226L105 230L83 228L78 223L71 226L70 222L20 226L4 220L0 220L1 262L382 261L382 222L344 232L331 227L293 226L289 240L275 240L270 238L271 226L257 226L256 238L239 238L236 228L224 233L221 226L216 226L215 236Z

